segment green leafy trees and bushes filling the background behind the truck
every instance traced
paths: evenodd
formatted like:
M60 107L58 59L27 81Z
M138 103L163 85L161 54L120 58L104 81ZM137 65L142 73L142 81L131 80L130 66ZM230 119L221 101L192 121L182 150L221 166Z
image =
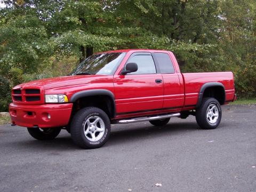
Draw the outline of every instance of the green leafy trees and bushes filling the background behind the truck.
M165 49L182 72L233 71L253 97L254 0L6 0L0 9L0 75L10 86L66 75L83 51ZM82 50L82 52L81 52Z

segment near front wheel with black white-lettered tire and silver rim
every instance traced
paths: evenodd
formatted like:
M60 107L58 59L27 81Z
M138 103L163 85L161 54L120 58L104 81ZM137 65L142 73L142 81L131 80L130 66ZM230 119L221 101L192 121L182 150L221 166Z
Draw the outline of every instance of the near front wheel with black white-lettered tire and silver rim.
M95 123L95 125L92 125L93 122L90 122L91 119L93 121L93 118L97 119L98 117L100 117L101 120ZM92 123L92 131L86 122L89 124ZM105 126L104 129L102 128L103 125ZM99 126L101 127L101 129L104 130L102 131L103 134L96 131ZM111 125L108 115L103 110L97 107L85 107L79 110L73 117L70 126L71 138L76 143L76 145L85 149L99 148L104 145L109 139L110 130ZM86 131L88 132L87 134L85 133ZM93 141L93 133L94 138L99 137L99 135L101 134L99 137L100 139L97 141Z

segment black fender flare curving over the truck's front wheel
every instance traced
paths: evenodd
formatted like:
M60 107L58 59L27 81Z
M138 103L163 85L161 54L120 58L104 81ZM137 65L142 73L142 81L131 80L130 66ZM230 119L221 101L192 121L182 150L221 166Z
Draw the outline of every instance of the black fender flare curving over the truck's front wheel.
M96 96L96 95L105 95L110 98L111 101L111 117L116 116L116 103L115 103L115 95L113 92L105 89L94 89L94 90L85 90L79 91L73 94L70 98L70 102L75 102L79 98L89 97L89 96Z

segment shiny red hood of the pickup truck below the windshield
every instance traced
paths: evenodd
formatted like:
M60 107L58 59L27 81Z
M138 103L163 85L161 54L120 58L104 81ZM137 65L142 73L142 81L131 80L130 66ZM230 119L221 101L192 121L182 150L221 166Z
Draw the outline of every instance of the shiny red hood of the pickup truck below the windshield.
M74 75L74 76L63 76L63 77L52 77L45 78L36 81L31 81L23 83L14 87L24 87L24 86L43 86L45 90L53 89L56 87L69 86L69 85L79 85L86 83L100 83L106 82L106 79L113 79L113 76L107 75Z

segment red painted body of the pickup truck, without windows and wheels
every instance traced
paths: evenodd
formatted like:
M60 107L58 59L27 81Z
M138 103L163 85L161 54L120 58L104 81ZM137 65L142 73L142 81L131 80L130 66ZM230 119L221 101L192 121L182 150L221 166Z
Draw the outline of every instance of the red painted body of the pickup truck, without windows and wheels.
M114 75L55 77L15 86L12 90L13 103L10 104L12 122L26 127L66 126L70 120L73 103L46 104L44 94L66 94L70 100L72 95L79 91L109 90L115 95L116 115L113 119L195 109L199 91L207 82L219 82L224 85L225 104L235 98L234 76L231 72L182 74L177 60L170 51L117 50L109 52L126 52ZM120 75L126 61L134 52L169 54L175 73ZM155 79L162 79L163 83L156 84ZM14 91L21 87L21 93L15 94ZM40 93L26 94L27 89L39 89ZM40 100L26 101L27 96L31 95L40 97ZM14 96L21 97L22 101L15 100ZM28 111L29 115L27 115ZM48 120L45 114L50 114L51 119Z

